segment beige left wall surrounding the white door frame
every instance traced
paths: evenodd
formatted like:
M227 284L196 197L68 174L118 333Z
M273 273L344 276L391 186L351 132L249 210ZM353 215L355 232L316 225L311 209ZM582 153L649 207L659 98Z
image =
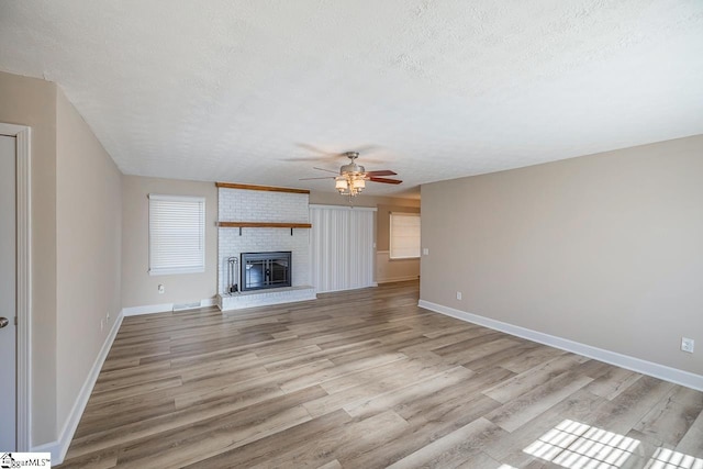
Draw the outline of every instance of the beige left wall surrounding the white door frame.
M38 446L60 437L121 309L121 174L55 83L0 72L0 121L32 129L31 445Z

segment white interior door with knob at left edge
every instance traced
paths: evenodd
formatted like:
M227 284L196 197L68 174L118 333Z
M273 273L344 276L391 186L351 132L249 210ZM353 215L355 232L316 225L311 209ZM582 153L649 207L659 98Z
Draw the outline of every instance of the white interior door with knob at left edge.
M15 138L0 135L0 453L16 448Z

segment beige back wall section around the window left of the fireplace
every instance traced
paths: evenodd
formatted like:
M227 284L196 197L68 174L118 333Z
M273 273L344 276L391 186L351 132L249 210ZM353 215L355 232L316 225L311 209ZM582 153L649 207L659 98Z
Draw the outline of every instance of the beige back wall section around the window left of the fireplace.
M171 276L148 273L149 193L205 198L205 271ZM122 178L122 306L190 303L217 290L217 191L214 182L124 176ZM165 287L158 293L158 284Z

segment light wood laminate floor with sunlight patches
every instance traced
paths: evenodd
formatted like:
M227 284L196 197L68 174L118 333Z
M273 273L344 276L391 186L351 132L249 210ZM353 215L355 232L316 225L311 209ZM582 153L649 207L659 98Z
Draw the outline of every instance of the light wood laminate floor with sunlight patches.
M702 410L701 392L423 310L403 282L125 317L60 467L692 469Z

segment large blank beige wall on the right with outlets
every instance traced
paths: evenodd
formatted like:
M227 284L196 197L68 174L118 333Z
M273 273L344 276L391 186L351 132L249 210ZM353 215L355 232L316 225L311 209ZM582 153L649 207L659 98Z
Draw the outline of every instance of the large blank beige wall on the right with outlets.
M703 375L680 351L703 344L702 155L699 135L423 186L422 300Z

